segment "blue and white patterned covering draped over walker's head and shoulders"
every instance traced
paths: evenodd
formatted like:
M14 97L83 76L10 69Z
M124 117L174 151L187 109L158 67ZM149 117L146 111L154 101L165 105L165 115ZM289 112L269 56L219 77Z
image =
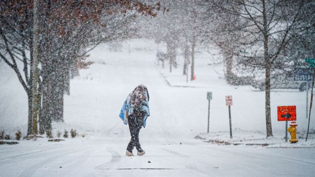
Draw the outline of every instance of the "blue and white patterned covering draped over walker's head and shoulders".
M147 118L150 116L149 108L149 93L147 87L144 85L137 86L130 94L128 94L123 107L120 111L119 117L127 124L126 113L132 115L135 110L144 111L143 127L146 127Z

